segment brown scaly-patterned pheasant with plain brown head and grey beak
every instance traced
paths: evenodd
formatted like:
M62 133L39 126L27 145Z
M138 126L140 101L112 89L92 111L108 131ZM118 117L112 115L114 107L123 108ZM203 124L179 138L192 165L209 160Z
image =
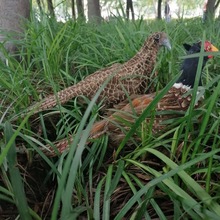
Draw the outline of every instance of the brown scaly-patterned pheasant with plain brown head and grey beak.
M28 109L36 114L53 108L58 103L64 104L79 95L92 99L103 83L110 81L101 92L98 102L111 107L126 99L127 95L144 93L155 67L157 53L161 46L171 48L167 35L156 32L149 36L139 52L124 64L113 64L87 76L79 83L46 97ZM126 92L127 94L126 94Z

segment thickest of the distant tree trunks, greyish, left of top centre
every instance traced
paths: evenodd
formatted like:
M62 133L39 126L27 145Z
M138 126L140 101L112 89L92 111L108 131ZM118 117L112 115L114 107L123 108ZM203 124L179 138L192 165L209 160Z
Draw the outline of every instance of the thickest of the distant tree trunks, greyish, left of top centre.
M102 17L99 0L88 1L88 19L89 21L94 21L96 23L101 22Z

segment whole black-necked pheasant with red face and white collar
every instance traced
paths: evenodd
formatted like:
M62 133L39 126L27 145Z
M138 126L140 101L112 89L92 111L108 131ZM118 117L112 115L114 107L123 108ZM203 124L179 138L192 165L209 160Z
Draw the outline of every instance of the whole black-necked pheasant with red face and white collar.
M192 46L188 44L184 44L185 49L188 51L188 54L198 53L201 50L201 42L194 43ZM205 41L204 45L205 51L218 51L216 47L214 47L209 41ZM203 58L203 66L205 66L207 60L212 56L205 56ZM164 110L175 110L175 111L185 111L191 101L191 95L187 94L187 92L193 88L195 83L195 77L198 67L198 57L194 58L186 58L183 61L181 67L181 76L176 81L176 83L171 87L168 93L162 97L162 99L157 103L156 112L164 111ZM199 81L199 86L201 86L201 79ZM120 143L124 138L124 133L121 131L120 127L125 128L125 130L129 130L126 124L123 121L129 122L130 124L134 124L135 117L134 114L140 116L140 114L149 106L149 104L154 100L157 93L139 95L139 97L132 99L132 102L124 105L122 103L122 108L120 111L115 111L110 114L107 118L96 122L90 132L90 139L99 138L103 134L110 134L110 140L116 143ZM201 104L201 100L198 101L195 107ZM120 104L119 104L120 106ZM135 112L135 113L134 113ZM152 125L152 132L156 133L162 129L164 129L164 125L161 124L162 121L176 117L173 114L156 114L154 118L154 122ZM123 119L123 120L121 120ZM149 124L151 118L146 118L146 123ZM54 146L58 149L59 152L63 152L68 148L69 143L73 141L72 138L63 139L54 144ZM50 148L50 147L49 147ZM55 156L54 150L50 148L50 152L45 152L50 156ZM44 150L45 151L45 150Z

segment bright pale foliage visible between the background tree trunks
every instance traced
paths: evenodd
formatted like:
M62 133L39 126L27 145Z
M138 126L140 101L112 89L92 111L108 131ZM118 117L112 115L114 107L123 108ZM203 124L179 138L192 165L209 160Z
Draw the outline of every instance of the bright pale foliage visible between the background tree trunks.
M43 8L45 12L47 12L47 4L45 0L41 0L43 4ZM76 1L75 1L76 4ZM157 4L158 1L154 0L133 0L135 17L140 18L156 18L157 16ZM200 10L200 14L202 14L203 9L203 0L172 0L170 1L172 16L178 15L179 17L185 16L194 16L195 12ZM34 8L37 7L36 1L33 1ZM163 12L164 1L162 1L162 12ZM174 6L174 7L173 7ZM71 8L72 1L70 0L56 0L54 1L54 8L56 11L57 18L71 18ZM75 5L76 8L76 5ZM84 1L84 8L87 9L87 1ZM119 16L121 13L121 9L125 10L126 8L126 0L100 0L100 8L102 11L102 17L105 19L106 17L111 16Z

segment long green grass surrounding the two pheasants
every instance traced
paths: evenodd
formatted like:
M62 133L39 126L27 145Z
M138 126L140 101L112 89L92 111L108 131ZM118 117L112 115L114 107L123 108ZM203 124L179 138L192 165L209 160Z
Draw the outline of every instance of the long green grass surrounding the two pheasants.
M193 108L197 84L189 110L168 121L169 129L153 135L144 125L178 77L185 55L182 44L210 39L219 48L218 26L218 20L204 25L200 19L166 24L117 18L96 26L46 17L38 22L32 17L19 42L19 61L8 56L8 66L0 63L1 215L54 220L219 219L219 53L204 69L205 99L200 108ZM173 47L158 56L155 85L162 91L119 146L112 146L107 136L87 145L91 126L99 118L97 96L91 102L85 99L84 106L76 99L55 107L45 113L52 121L44 115L35 123L30 116L13 120L48 94L102 67L127 61L150 33L161 30L168 33ZM199 69L201 63L197 82ZM58 110L61 118L56 117ZM49 158L39 148L69 133L75 137L69 152ZM127 148L133 134L140 141L133 140ZM17 211L12 212L15 206Z

